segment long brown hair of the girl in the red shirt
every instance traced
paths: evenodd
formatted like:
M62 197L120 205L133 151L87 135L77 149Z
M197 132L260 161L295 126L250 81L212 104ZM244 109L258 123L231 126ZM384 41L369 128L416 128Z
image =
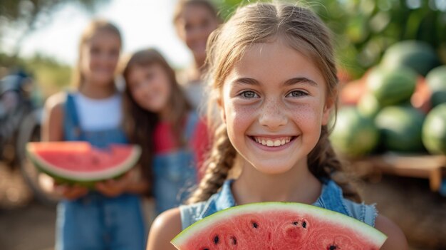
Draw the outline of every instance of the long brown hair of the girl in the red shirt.
M141 108L135 99L133 99L130 88L128 87L128 78L132 68L135 66L148 67L154 64L160 65L170 82L170 97L168 103L170 105L170 123L177 138L183 138L182 130L184 127L185 118L192 110L192 106L182 93L180 85L175 78L175 71L169 66L165 58L155 49L146 49L138 51L130 57L123 70L123 77L125 78L126 86L123 98L124 108L124 130L128 135L130 142L140 145L142 147L142 154L139 164L142 167L142 173L150 183L152 183L152 159L155 155L155 147L153 141L153 133L155 127L159 122L158 114L152 113L144 108ZM185 142L181 139L178 142L183 146Z

